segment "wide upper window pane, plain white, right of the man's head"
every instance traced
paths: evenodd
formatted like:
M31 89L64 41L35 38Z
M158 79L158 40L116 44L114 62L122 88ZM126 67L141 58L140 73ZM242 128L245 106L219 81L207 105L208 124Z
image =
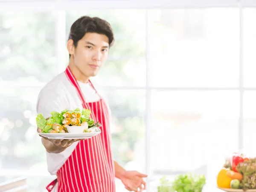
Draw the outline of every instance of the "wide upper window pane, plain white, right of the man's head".
M152 86L239 85L239 9L151 10L149 22Z

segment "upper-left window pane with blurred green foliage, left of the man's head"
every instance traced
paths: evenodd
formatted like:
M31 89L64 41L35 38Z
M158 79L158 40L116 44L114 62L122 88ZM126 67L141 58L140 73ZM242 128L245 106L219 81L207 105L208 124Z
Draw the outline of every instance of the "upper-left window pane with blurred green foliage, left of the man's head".
M0 13L0 81L50 80L57 69L55 52L54 14Z

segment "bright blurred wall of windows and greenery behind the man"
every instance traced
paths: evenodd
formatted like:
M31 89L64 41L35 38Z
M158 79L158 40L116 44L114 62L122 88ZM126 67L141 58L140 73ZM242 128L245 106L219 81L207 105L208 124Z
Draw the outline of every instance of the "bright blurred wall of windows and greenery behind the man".
M45 192L35 117L41 88L68 64L67 36L83 15L113 27L93 80L112 110L114 158L151 181L187 171L209 181L232 152L254 150L256 1L0 0L0 178ZM117 191L125 192L120 181Z

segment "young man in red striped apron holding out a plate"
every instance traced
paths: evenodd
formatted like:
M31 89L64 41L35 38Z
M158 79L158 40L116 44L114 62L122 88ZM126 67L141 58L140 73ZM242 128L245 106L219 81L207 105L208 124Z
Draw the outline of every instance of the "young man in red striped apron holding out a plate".
M42 138L48 171L57 175L47 186L48 191L115 192L115 177L129 191L143 191L143 186L145 189L143 178L147 175L126 171L113 160L108 105L90 82L90 77L97 75L107 60L113 40L113 31L105 20L98 17L76 20L67 42L69 65L38 96L37 112L44 117L49 117L52 111L86 108L91 110L91 118L102 124L102 133L87 140Z

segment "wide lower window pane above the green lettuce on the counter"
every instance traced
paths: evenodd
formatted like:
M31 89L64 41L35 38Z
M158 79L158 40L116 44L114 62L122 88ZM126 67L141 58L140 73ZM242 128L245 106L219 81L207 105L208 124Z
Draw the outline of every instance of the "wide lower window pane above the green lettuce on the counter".
M215 166L238 149L238 119L237 91L152 91L154 174Z

